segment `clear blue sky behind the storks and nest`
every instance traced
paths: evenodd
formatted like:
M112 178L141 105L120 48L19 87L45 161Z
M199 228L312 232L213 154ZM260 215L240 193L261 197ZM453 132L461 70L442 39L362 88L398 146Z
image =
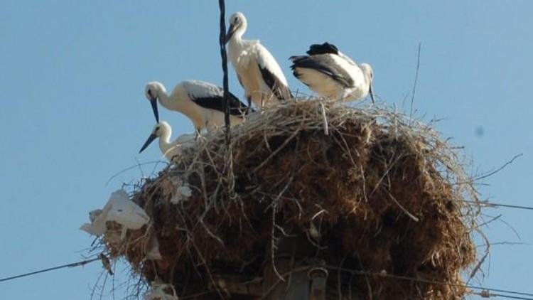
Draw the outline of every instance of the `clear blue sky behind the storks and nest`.
M532 205L533 1L228 2L229 14L247 14L246 37L271 50L293 90L307 91L287 58L330 41L371 63L375 91L401 108L421 42L417 115L446 118L438 129L465 146L470 171L524 153L480 191ZM136 159L160 157L157 146L137 154L154 125L144 85L220 84L217 38L217 1L0 2L0 277L80 259L92 242L78 230L87 212L141 173L106 181ZM174 136L193 129L177 113L162 109L161 119ZM486 213L502 214L522 242L533 242L532 211ZM486 232L491 242L517 242L503 223ZM533 292L531 245L495 245L491 253L484 285ZM92 264L1 282L0 299L89 299L100 270Z

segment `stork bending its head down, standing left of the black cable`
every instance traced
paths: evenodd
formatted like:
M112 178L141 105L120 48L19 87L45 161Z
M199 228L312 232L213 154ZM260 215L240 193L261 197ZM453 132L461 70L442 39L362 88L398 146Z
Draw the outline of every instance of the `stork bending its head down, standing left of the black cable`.
M156 122L159 122L157 102L166 109L185 114L194 124L197 132L202 129L215 129L224 126L224 106L222 87L200 80L185 80L168 95L161 82L149 82L146 85L146 98L150 101ZM247 106L228 93L230 102L230 124L239 124L247 114Z

